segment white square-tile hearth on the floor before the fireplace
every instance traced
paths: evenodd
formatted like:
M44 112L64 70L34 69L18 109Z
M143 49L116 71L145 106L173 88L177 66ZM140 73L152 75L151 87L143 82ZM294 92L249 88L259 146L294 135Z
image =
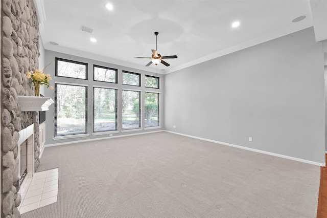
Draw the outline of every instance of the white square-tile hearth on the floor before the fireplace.
M35 172L20 187L21 203L18 210L25 213L57 202L59 169Z

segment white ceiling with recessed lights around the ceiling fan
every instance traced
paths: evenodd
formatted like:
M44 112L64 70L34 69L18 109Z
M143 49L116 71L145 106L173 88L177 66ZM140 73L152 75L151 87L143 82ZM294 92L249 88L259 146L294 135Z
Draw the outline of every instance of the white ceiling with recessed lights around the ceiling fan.
M308 0L34 0L47 50L161 74L313 26ZM105 5L111 3L113 10ZM296 17L304 20L292 23ZM240 26L232 28L233 21ZM94 29L90 34L81 26ZM145 65L155 49L177 55ZM94 37L97 42L91 42ZM52 45L57 42L59 45Z

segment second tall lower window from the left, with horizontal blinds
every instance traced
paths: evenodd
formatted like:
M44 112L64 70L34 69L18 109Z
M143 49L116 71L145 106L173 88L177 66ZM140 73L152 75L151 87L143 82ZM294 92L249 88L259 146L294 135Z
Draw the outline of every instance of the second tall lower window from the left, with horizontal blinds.
M93 88L93 132L117 130L117 90Z

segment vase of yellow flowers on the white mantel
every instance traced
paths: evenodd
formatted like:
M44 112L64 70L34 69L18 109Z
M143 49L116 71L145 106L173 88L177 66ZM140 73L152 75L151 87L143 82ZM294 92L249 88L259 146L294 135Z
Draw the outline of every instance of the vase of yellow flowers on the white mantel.
M48 67L50 64L45 66L43 70L34 70L27 72L27 78L32 79L35 87L35 96L40 96L40 86L41 85L46 85L46 88L49 88L53 90L53 86L50 85L49 80L51 80L51 75L50 74L45 74L44 71L46 67Z

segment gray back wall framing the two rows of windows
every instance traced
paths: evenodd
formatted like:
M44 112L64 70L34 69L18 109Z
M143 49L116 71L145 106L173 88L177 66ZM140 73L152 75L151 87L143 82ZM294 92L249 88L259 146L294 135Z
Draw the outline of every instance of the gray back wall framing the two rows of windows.
M71 78L64 78L64 77L56 77L55 76L55 58L59 57L59 58L64 58L64 59L69 59L69 60L75 60L75 61L80 61L80 62L84 62L84 63L88 63L88 80L83 80L83 79L79 79L78 81L71 79ZM77 84L87 84L88 85L88 99L93 99L93 94L92 94L92 85L100 85L100 86L108 86L110 88L118 88L118 96L122 96L122 89L131 89L131 90L137 90L137 91L141 91L141 102L144 102L144 92L145 91L149 91L149 92L160 92L160 102L159 102L159 106L160 106L160 117L162 117L164 115L164 107L163 102L164 102L164 93L162 93L162 87L165 86L165 79L163 75L160 74L156 74L156 73L151 73L151 72L146 72L146 71L141 71L141 70L137 70L137 69L132 69L132 68L127 68L127 67L123 67L123 66L118 66L115 64L111 64L111 63L106 63L106 62L102 62L102 61L97 61L97 60L92 60L92 59L87 59L87 58L83 58L83 57L78 57L78 56L73 56L73 55L68 55L68 54L63 54L63 53L58 53L58 52L53 52L53 51L49 51L49 50L45 50L45 58L44 61L46 64L50 64L50 66L48 68L46 68L45 73L50 73L51 77L53 80L50 81L51 85L54 86L55 82L68 82L68 83L77 83ZM104 66L104 67L110 67L110 68L114 68L114 69L118 69L118 84L113 84L113 83L106 83L106 82L94 82L93 80L93 65L97 64L99 66ZM138 86L131 86L131 85L122 85L121 81L122 81L122 71L130 71L130 72L134 72L134 73L139 73L141 74L141 87ZM151 88L144 88L144 75L150 75L150 76L157 76L160 78L160 89L151 89ZM55 91L54 90L50 90L50 89L45 89L44 90L44 96L49 96L51 97L53 100L55 100ZM120 113L120 108L122 105L122 99L119 98L118 101L118 119L121 120L122 118L122 114ZM142 103L142 105L144 105L144 103ZM142 106L141 108L142 112L144 112L144 108ZM79 137L79 138L69 138L69 139L60 139L60 140L54 140L54 134L55 134L55 130L54 130L54 123L55 123L55 105L52 104L49 107L49 111L46 112L46 121L45 121L45 128L46 128L46 138L45 138L45 145L51 145L51 144L65 144L68 142L76 142L76 141L84 141L84 140L95 140L95 139L99 139L99 138L106 138L106 137L110 137L109 134L111 134L110 132L108 132L105 135L98 135L98 136L92 136L92 125L93 125L93 102L91 100L88 100L88 134L90 134L88 137ZM142 113L142 117L141 120L144 120L144 113ZM164 126L164 120L161 119L160 122L161 126ZM119 129L120 129L121 125L119 125ZM162 128L147 128L146 130L144 130L144 122L142 122L142 129L143 130L137 130L135 132L124 132L124 133L116 133L113 134L113 136L122 136L122 135L129 135L129 134L139 134L139 133L146 133L146 132L153 132L153 131L157 131L157 130L161 130Z

